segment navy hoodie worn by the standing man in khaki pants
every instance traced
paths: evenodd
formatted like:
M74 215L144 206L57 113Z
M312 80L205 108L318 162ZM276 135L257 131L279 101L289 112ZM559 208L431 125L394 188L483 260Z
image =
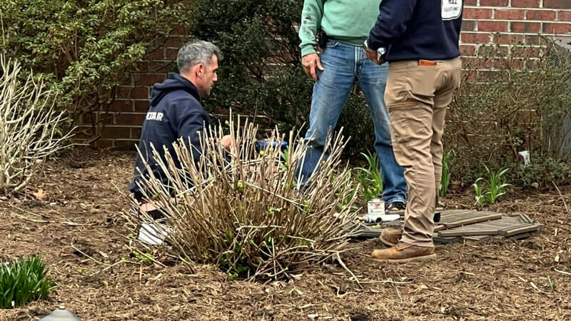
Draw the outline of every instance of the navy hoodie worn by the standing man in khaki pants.
M462 11L463 0L383 0L367 44L389 62L458 57Z

